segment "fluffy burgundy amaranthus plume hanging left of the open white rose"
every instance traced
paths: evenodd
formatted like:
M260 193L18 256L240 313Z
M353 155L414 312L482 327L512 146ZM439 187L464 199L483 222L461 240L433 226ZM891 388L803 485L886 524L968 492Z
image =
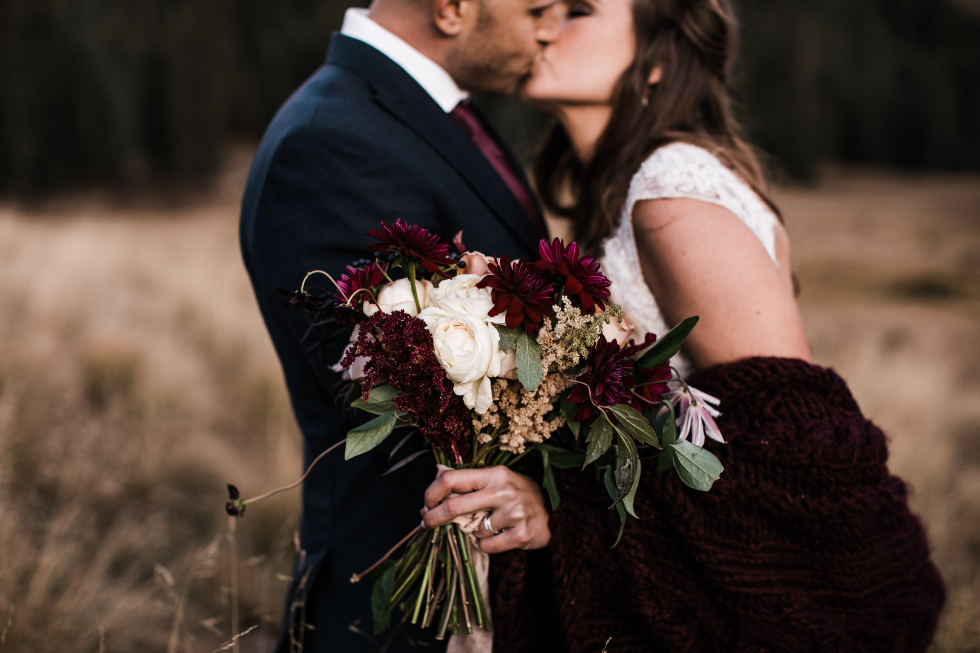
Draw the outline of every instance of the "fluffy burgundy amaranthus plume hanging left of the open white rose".
M404 311L378 311L361 325L357 343L340 365L350 367L359 356L370 358L365 365L366 400L370 388L388 383L403 393L395 398L395 408L417 419L429 443L457 463L468 460L469 411L436 360L424 322Z

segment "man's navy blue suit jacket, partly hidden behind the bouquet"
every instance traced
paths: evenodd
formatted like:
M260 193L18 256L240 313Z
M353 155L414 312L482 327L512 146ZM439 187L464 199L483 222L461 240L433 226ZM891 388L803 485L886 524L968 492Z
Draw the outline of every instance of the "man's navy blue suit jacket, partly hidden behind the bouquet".
M519 172L513 157L512 163ZM491 255L526 258L537 250L534 226L463 130L401 67L337 34L325 65L269 126L241 214L245 266L282 363L307 464L368 416L345 416L334 401L340 376L329 367L346 338L312 350L306 319L283 308L276 289L297 288L312 270L341 275L370 255L373 239L365 232L396 218L446 242L462 229L470 248ZM380 477L397 439L347 462L341 450L331 453L303 487L303 553L295 574L305 580L294 581L287 624L302 617L315 627L304 630L304 651L378 648L348 628L361 620L358 628L371 630L371 582L352 585L348 578L418 524L423 491L435 476L432 460L422 457ZM407 445L399 454L411 451ZM280 650L289 650L287 640ZM411 650L408 638L396 634L387 650Z

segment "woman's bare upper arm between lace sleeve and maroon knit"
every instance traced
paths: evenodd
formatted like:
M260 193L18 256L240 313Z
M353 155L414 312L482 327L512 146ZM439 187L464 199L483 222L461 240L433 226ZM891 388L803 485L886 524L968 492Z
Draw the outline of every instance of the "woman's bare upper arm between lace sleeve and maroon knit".
M684 343L698 368L752 356L810 360L788 275L734 214L697 200L647 200L636 204L633 226L664 318L701 317ZM779 258L788 272L788 256Z

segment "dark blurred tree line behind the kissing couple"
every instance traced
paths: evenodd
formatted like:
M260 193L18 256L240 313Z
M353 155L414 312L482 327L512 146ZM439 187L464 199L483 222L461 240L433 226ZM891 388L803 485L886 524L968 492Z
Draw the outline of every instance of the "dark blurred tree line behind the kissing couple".
M794 176L980 169L976 0L736 0L734 93ZM3 0L0 191L207 178L322 63L340 0ZM484 99L518 152L543 117Z

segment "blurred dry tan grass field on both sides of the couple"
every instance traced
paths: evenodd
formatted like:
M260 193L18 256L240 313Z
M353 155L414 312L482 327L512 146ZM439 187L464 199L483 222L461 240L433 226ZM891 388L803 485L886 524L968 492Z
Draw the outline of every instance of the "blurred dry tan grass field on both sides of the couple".
M0 205L0 651L269 650L299 436L216 188ZM892 436L980 651L980 176L828 171L777 193L816 360Z

